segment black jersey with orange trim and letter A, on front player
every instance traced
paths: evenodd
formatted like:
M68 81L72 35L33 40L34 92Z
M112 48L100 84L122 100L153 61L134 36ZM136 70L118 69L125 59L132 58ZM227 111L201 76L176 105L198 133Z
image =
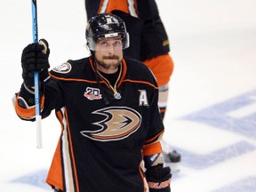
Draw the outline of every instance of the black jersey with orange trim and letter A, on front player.
M139 61L124 59L119 72L116 98L109 82L96 76L92 58L68 60L50 72L42 116L55 109L62 128L46 180L52 187L76 192L145 191L143 148L164 132L158 87ZM17 105L16 111L19 115Z

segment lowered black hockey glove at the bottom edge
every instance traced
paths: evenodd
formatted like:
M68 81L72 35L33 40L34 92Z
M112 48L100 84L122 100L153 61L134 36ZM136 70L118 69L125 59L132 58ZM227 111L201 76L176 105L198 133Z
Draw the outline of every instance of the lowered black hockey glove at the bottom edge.
M148 181L149 192L171 192L171 169L158 164L147 169L145 172Z

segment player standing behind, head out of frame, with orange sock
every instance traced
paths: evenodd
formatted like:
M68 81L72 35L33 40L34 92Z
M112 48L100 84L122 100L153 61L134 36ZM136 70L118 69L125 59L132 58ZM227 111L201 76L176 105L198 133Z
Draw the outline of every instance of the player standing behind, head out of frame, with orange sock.
M87 18L102 12L114 13L124 20L131 36L124 55L142 61L156 76L159 85L158 106L161 116L167 108L169 81L173 71L170 46L155 0L85 0ZM171 161L180 162L175 150L168 153Z

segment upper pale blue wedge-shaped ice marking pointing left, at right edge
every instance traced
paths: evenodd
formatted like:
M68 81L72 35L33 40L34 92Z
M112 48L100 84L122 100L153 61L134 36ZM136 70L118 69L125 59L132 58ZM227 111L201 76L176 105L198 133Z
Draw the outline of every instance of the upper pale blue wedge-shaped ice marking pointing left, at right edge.
M256 90L185 116L184 119L256 139Z

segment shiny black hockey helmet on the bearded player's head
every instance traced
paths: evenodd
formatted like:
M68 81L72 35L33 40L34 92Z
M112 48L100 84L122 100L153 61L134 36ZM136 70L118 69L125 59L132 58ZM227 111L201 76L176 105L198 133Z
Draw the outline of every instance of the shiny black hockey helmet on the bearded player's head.
M126 31L124 20L109 13L100 13L88 20L85 37L91 51L95 51L95 43L100 37L112 36L122 37L123 49L129 47L129 34Z

